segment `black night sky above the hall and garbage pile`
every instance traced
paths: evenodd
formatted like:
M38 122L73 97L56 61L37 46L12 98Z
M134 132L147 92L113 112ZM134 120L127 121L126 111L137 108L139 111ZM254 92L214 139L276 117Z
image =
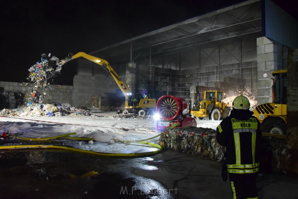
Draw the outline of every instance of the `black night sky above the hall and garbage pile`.
M295 18L297 3L273 0ZM27 82L42 53L59 59L92 51L241 0L44 0L1 2L0 81ZM54 84L72 85L75 62L64 65Z

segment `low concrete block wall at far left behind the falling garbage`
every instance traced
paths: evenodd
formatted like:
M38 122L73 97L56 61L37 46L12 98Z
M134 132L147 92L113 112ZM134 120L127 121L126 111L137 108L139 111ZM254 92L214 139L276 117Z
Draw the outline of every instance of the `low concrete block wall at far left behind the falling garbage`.
M58 103L69 103L72 105L72 86L67 85L49 85L44 92L46 92L46 98L43 101L43 104L58 102ZM19 92L24 95L23 104L27 104L27 98L30 97L31 92L27 91L28 87L25 83L22 82L7 82L0 81L0 91L10 91L10 92ZM0 103L3 103L1 98ZM6 108L1 104L1 108Z

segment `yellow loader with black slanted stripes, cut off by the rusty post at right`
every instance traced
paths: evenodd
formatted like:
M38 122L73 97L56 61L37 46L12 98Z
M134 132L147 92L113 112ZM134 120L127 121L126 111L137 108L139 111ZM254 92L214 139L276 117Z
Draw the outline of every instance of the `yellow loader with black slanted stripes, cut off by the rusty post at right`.
M260 104L254 109L262 132L286 135L287 120L287 73L288 70L276 70L272 85L272 103Z

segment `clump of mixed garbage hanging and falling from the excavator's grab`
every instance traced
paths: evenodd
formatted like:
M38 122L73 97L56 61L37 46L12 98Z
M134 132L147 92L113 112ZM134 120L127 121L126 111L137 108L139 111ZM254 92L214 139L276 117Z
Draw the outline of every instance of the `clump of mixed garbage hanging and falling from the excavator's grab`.
M43 102L46 96L46 88L53 81L52 78L60 73L61 66L65 63L65 59L59 60L57 57L51 56L51 53L41 55L41 61L36 62L28 70L30 74L26 86L28 87L27 90L31 92L30 98L27 98L28 101L37 104Z

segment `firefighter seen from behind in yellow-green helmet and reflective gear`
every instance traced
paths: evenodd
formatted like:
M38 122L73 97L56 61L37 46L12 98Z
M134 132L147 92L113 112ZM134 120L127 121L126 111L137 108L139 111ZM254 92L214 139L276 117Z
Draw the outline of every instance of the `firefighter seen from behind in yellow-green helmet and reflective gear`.
M234 198L258 198L256 178L260 165L261 124L239 95L229 117L216 128L218 144L226 146L226 165Z

